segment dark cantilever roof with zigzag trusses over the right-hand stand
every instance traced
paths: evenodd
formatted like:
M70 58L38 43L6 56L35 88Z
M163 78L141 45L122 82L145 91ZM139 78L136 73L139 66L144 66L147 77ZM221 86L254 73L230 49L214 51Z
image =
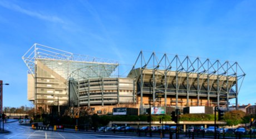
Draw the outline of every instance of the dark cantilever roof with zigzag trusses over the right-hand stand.
M163 92L165 104L166 95L175 95L176 107L180 96L186 96L187 104L190 96L196 96L198 106L201 97L207 98L206 103L215 97L219 107L221 97L226 105L230 98L238 103L245 73L237 62L141 51L128 77L137 77L141 107L143 93L150 93L150 88L154 102L155 93Z

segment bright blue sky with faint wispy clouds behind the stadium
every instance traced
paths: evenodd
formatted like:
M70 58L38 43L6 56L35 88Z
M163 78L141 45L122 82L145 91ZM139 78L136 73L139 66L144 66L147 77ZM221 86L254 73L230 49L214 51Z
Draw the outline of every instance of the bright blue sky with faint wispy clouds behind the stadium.
M237 61L239 103L256 102L256 1L0 1L3 106L31 106L22 56L34 44L134 64L139 52Z

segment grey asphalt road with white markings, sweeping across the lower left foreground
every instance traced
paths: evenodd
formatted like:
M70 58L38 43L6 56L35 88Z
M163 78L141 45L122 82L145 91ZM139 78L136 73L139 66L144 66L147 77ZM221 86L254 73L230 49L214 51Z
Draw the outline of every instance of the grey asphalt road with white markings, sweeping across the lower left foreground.
M1 124L2 130L2 124ZM21 126L18 122L11 122L4 124L4 130L10 131L9 133L0 133L0 138L132 138L132 139L159 139L159 137L131 137L131 136L120 136L120 135L102 135L100 132L96 133L72 133L72 132L56 132L56 131L44 131L44 130L32 130L30 126Z

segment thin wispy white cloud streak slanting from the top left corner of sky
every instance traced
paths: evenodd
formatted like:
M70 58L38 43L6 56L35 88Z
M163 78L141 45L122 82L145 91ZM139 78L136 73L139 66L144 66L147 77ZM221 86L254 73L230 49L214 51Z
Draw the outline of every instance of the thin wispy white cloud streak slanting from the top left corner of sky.
M64 23L63 20L59 17L48 16L48 15L44 15L42 13L38 13L38 12L35 12L35 11L29 11L27 9L24 9L24 8L18 6L17 4L8 3L6 1L0 1L0 6L2 6L4 8L11 9L13 11L23 13L23 14L27 14L28 16L31 16L31 17L42 19L42 20L45 20L45 21Z

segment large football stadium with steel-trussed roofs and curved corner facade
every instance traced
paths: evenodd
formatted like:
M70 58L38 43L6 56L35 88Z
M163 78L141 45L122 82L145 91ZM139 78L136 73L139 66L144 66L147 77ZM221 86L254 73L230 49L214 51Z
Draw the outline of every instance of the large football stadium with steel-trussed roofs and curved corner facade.
M238 108L245 73L237 62L140 52L130 72L120 77L119 62L33 44L22 57L28 67L28 100L36 110L51 106L113 108Z

